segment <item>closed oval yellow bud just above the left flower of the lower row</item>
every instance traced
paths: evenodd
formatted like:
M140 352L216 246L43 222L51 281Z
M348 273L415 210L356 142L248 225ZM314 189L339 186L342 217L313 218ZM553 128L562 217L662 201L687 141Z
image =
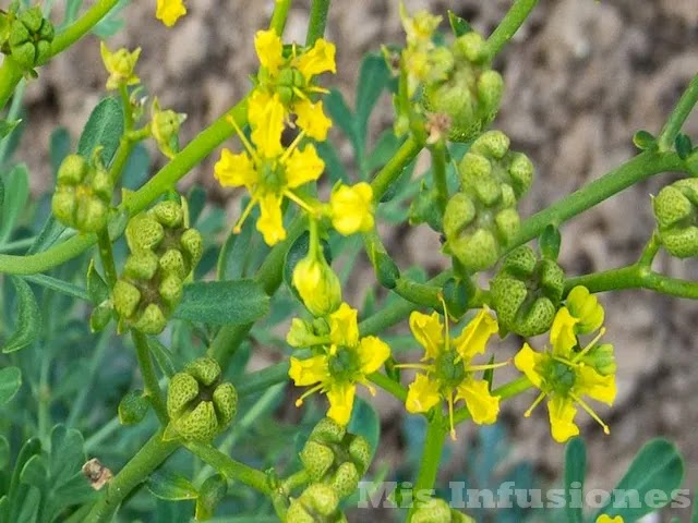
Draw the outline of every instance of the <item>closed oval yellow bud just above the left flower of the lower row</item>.
M341 303L339 278L324 256L309 254L293 268L293 287L313 316L327 316Z

